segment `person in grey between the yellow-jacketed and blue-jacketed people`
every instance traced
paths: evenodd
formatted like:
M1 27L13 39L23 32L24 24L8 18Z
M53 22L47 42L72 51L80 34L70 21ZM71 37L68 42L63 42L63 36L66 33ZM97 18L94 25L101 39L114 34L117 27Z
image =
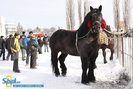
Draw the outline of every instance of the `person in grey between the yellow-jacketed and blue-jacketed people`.
M26 48L24 46L24 38L25 36L24 35L21 35L20 37L20 47L21 47L21 54L22 54L22 60L25 61L26 60Z

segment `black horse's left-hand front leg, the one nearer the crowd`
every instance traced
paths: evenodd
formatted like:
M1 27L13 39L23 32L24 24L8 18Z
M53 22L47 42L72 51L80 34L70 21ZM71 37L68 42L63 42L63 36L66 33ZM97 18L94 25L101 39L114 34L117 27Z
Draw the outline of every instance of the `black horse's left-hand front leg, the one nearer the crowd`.
M87 57L81 57L82 62L82 80L81 83L88 84L88 76L87 76L87 69L88 69L88 60Z

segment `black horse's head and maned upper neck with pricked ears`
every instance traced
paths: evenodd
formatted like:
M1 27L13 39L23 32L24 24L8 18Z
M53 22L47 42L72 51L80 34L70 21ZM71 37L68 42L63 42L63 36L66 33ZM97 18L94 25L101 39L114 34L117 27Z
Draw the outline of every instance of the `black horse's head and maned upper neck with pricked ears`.
M78 37L85 36L89 31L92 34L99 33L102 23L102 6L93 8L90 6L90 12L85 16L83 23L78 29Z

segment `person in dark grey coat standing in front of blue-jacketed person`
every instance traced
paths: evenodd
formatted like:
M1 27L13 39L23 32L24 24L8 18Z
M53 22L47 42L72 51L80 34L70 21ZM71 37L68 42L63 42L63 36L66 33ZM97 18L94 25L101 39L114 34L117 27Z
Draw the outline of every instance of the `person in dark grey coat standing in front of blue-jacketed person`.
M38 44L36 43L34 35L30 35L30 41L28 43L28 50L31 53L31 58L30 58L30 68L31 69L37 69L36 68L36 59L37 59L37 49L38 49Z

